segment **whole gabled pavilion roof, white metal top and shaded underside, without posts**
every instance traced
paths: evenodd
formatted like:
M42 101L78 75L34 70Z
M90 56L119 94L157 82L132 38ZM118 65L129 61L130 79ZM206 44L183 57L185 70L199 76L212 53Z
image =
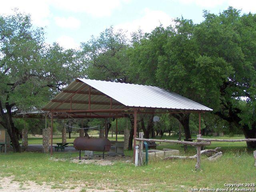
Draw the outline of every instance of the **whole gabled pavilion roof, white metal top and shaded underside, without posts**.
M176 110L212 110L202 104L156 86L80 78L77 78L64 91L57 94L43 109L70 110L72 108L72 110L86 110L88 109L88 91L90 86L92 87L91 110L109 109L110 98L113 99L112 109L143 107ZM74 92L77 90L80 90L80 92L74 95ZM70 107L71 96L72 107ZM65 102L60 105L62 101Z

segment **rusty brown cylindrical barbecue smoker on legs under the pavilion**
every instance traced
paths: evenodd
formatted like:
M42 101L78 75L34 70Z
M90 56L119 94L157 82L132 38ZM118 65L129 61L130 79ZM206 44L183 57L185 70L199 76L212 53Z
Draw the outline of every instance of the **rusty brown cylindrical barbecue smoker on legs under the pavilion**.
M81 150L103 152L104 159L104 152L108 152L110 147L111 143L107 138L77 137L74 140L74 148L79 150L79 160L81 160Z

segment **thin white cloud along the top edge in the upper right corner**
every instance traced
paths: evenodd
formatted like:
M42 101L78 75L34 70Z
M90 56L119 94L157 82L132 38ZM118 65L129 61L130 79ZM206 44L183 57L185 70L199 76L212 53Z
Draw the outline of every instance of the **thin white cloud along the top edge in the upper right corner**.
M242 9L243 12L256 12L255 0L176 0L183 4L196 4L203 8L213 8L220 5L232 6L236 9Z

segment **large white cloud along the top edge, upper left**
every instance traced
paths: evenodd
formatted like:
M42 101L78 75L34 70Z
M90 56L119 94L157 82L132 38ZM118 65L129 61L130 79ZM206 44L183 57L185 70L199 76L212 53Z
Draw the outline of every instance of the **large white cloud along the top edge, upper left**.
M13 14L12 9L30 14L37 26L49 24L52 13L50 8L68 12L87 13L96 17L110 16L116 9L130 0L5 0L1 1L0 13Z

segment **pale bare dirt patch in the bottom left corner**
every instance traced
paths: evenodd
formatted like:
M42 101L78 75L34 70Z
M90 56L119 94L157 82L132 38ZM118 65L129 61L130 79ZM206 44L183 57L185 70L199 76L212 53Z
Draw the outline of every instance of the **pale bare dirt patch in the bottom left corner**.
M114 192L116 190L110 189L92 189L87 188L83 185L71 185L65 184L62 186L57 186L54 184L46 184L45 182L42 185L37 184L33 181L26 182L17 182L14 181L14 176L0 178L0 191L1 192ZM98 188L98 186L95 186Z

